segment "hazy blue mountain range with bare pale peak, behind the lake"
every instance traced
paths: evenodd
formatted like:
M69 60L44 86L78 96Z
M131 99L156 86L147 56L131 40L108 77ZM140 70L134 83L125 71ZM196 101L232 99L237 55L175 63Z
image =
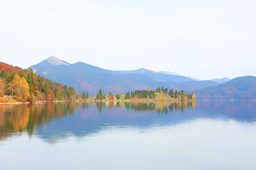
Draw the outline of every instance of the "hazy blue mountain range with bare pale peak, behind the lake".
M199 99L244 99L250 96L242 96L244 88L240 89L240 96L225 95L225 98L220 96L225 93L230 94L229 89L239 89L235 83L236 79L234 81L229 81L228 78L201 81L176 75L177 73L155 72L145 68L131 71L111 71L83 62L70 64L56 57L48 57L42 62L32 65L31 68L45 78L71 85L78 92L88 91L91 95L95 95L99 89L106 93L112 91L116 94L147 88L156 89L163 86L177 90L183 89L188 92L195 91ZM241 81L243 78L240 78ZM249 86L254 85L245 81L250 83ZM233 85L235 86L233 87ZM225 92L221 90L223 88L225 88Z

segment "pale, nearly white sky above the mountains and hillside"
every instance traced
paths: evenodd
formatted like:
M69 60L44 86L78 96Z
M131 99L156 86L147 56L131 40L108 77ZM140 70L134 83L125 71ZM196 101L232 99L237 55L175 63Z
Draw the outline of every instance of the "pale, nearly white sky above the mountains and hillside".
M256 76L255 0L0 0L0 61Z

